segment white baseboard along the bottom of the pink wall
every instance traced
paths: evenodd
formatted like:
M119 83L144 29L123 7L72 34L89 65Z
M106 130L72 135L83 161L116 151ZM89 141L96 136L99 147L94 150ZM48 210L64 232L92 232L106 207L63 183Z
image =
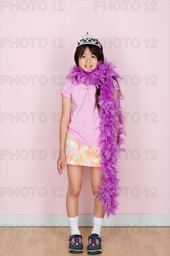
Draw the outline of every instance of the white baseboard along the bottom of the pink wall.
M104 226L170 226L169 214L117 214L116 216L105 216ZM69 221L66 214L1 214L0 226L46 226L69 227ZM79 227L93 226L92 214L79 214Z

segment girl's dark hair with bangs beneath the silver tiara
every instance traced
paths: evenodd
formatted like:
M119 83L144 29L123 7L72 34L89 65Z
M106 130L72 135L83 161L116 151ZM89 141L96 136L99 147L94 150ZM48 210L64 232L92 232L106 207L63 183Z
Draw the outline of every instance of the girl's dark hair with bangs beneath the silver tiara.
M92 45L92 44L84 44L84 45L80 45L76 48L76 51L75 51L75 54L74 54L74 61L76 62L76 65L78 66L78 60L79 58L84 54L85 52L85 49L86 48L89 48L90 52L94 55L96 55L98 61L104 61L104 54L103 54L103 47L101 45L101 48L98 47L97 45ZM78 66L79 67L79 66ZM114 77L113 77L114 80L116 80ZM117 80L116 80L117 81ZM118 81L117 81L118 83ZM119 85L118 85L119 86ZM95 103L95 107L94 109L98 108L98 113L100 113L100 106L98 105L98 96L100 95L100 85L98 85L98 88L96 88L96 103Z

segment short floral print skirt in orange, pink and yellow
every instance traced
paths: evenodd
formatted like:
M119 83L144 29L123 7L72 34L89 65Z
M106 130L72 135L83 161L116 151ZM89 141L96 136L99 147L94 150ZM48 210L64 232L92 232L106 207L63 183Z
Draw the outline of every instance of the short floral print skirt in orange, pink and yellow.
M68 134L65 141L65 157L66 164L101 167L100 147L85 145Z

